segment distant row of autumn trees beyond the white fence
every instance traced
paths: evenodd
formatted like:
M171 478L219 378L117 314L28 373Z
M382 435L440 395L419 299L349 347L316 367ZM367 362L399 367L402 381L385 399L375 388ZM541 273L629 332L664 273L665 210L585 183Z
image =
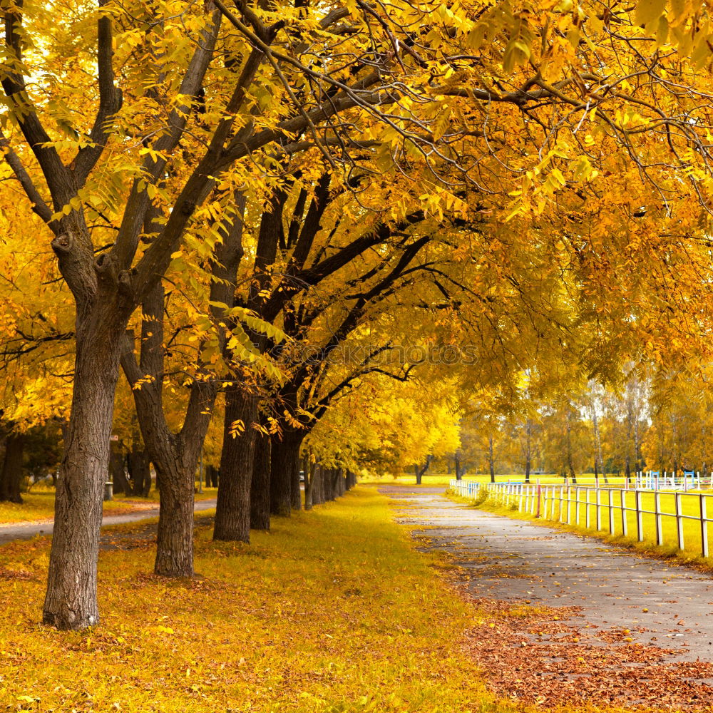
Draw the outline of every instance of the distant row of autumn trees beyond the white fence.
M460 445L446 465L471 473L616 473L646 469L709 471L713 432L707 384L679 375L629 375L620 384L596 382L528 404L526 414L489 411L460 421ZM528 472L528 452L530 469Z

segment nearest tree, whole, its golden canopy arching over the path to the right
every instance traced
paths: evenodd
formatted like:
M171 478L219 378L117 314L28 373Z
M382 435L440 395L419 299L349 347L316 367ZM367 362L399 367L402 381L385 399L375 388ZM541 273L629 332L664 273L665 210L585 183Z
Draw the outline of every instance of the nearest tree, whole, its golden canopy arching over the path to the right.
M701 71L708 36L693 5L602 14L589 3L532 12L476 0L329 11L299 2L232 11L214 0L174 12L162 2L101 0L57 17L32 0L6 0L3 9L4 158L27 210L53 236L76 307L48 623L98 622L101 483L131 315L158 289L198 207L222 212L225 196L246 186L267 203L284 155L312 151L352 190L356 166L366 175L416 166L424 213L440 218L472 205L471 213L488 215L500 229L478 241L498 266L486 282L503 286L488 292L491 284L473 283L468 294L484 319L502 295L495 312L519 302L519 312L539 315L538 337L559 330L566 341L568 319L543 327L541 317L557 315L576 282L593 310L628 321L627 342L644 340L660 354L706 349L657 329L666 324L661 299L699 328L709 298L710 281L700 279L706 241L696 242L712 185L709 77ZM675 51L660 51L667 41ZM70 54L73 63L64 61ZM85 71L95 65L96 77ZM152 205L164 218L141 242ZM394 222L410 209L389 201ZM210 230L194 235L212 250ZM477 255L473 247L460 246ZM524 269L533 255L528 272L540 289L530 300L506 267ZM693 287L665 294L660 279L647 291L651 268ZM563 271L576 279L550 309L547 285ZM661 335L655 344L652 334ZM520 356L504 345L495 344L503 364L518 371ZM593 374L625 347L613 338L592 347Z

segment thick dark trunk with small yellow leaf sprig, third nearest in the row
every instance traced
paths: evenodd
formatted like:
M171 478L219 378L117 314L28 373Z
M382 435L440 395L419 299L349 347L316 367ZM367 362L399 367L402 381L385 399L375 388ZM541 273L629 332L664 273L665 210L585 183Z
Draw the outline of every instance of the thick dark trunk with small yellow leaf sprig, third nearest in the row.
M236 433L235 424L242 423ZM214 540L250 542L250 488L255 455L257 398L245 391L225 394L220 485L215 508Z

